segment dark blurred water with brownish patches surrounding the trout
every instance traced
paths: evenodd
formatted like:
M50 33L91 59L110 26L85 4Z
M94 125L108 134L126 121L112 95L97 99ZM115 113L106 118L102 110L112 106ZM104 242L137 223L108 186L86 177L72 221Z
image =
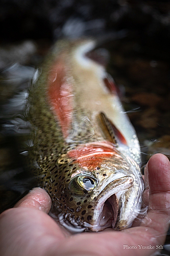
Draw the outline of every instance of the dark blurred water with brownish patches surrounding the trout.
M1 0L0 10L1 211L33 187L20 154L27 131L17 130L16 116L33 74L59 38L98 38L137 131L142 166L155 153L170 156L169 1ZM170 255L168 248L167 236L161 255Z

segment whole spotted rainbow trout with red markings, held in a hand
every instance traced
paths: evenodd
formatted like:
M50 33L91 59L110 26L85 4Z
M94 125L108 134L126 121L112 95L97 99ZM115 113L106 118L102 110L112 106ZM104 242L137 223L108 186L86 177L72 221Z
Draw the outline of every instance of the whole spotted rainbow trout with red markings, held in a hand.
M121 230L139 214L143 181L134 128L93 40L58 41L30 89L29 161L52 212L76 230Z

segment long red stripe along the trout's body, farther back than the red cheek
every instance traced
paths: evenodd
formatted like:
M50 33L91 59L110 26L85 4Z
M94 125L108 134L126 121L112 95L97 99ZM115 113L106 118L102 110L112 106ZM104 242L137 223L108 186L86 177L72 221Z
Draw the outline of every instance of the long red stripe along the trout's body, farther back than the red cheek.
M66 65L64 54L61 54L57 62L48 73L48 99L52 110L60 122L63 136L68 136L68 129L72 120L72 84L66 77Z

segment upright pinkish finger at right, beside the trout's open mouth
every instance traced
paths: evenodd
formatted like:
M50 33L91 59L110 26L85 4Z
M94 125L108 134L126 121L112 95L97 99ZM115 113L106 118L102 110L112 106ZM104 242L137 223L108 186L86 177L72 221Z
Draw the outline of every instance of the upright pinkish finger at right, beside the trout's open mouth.
M147 165L150 188L149 211L142 226L152 228L157 237L164 238L170 219L170 163L167 157L156 154Z

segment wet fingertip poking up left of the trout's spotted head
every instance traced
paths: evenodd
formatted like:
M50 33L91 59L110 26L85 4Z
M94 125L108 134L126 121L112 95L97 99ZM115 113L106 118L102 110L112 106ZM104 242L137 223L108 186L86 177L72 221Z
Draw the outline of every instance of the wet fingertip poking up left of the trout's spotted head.
M51 198L42 188L36 187L19 200L14 207L27 207L44 211L48 214L51 208Z

